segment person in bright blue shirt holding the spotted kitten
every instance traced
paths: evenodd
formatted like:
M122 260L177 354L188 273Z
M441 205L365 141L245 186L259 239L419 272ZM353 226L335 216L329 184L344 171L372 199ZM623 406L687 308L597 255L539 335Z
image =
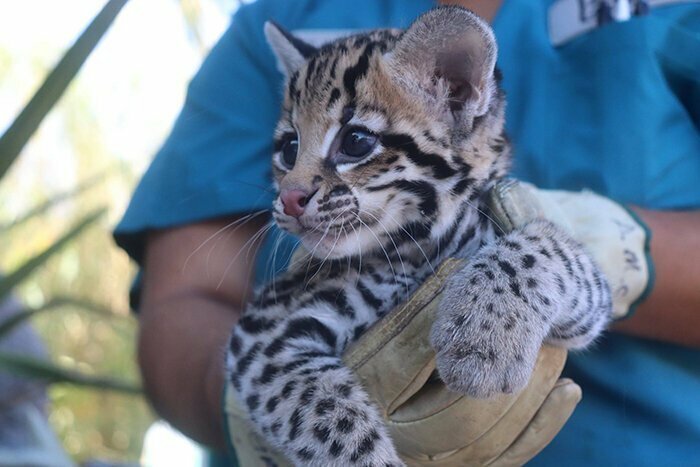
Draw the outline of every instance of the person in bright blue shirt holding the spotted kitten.
M207 444L226 440L221 349L236 310L254 275L268 281L288 257L270 256L275 235L255 236L272 198L267 172L282 85L262 25L273 19L317 35L320 28L405 28L434 6L360 3L242 7L190 85L173 133L116 230L143 267L137 309L146 388L165 418ZM652 232L656 282L648 274L642 289L650 293L636 312L592 350L569 356L564 374L582 386L584 400L532 465L692 461L700 441L700 262L692 260L700 251L698 7L451 3L492 21L514 175L634 206ZM192 254L236 219L215 241L216 254ZM248 250L237 256L241 248L260 249L259 267L245 261Z

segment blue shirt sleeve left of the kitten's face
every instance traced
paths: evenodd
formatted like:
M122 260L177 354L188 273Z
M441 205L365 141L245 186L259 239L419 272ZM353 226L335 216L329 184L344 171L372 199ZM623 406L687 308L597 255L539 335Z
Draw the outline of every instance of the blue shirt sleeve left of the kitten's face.
M139 264L150 229L271 205L282 76L264 38L266 3L242 6L233 17L115 229L117 244Z

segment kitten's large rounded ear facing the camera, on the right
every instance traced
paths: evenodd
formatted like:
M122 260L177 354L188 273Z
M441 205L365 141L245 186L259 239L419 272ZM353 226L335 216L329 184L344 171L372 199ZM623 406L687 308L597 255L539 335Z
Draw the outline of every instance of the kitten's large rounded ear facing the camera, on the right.
M471 11L445 6L419 17L388 56L403 85L446 105L455 119L484 115L496 93L496 38Z

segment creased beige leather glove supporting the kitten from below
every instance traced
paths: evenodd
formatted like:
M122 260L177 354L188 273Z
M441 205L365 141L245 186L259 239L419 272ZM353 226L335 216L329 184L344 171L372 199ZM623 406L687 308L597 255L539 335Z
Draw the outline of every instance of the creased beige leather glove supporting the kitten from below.
M409 466L524 464L559 432L581 389L558 379L566 351L544 347L518 394L474 399L448 391L437 378L429 333L447 277L462 264L447 260L410 300L371 327L344 355L383 414ZM262 440L228 391L230 439L243 467L291 465Z

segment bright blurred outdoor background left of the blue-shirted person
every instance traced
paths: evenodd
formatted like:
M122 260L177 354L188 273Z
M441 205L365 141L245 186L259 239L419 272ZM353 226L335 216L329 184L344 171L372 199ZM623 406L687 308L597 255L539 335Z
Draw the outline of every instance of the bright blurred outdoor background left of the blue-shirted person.
M110 230L240 2L116 2L106 33L14 158L8 130L108 3L0 1L0 302L10 310L0 314L0 378L19 381L0 380L0 413L29 397L27 381L38 392L45 382L69 462L134 464L155 417L134 360L135 268ZM33 342L26 323L43 349L33 343L22 360ZM11 465L2 420L0 465Z

